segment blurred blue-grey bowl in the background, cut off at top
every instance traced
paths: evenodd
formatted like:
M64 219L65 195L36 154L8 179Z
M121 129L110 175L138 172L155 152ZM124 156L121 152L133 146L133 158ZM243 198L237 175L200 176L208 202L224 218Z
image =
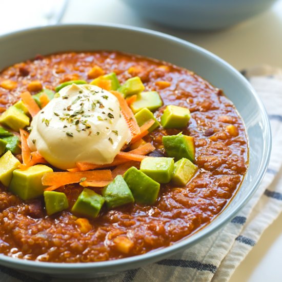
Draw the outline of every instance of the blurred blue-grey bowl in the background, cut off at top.
M180 29L233 26L267 10L276 0L123 0L136 15Z

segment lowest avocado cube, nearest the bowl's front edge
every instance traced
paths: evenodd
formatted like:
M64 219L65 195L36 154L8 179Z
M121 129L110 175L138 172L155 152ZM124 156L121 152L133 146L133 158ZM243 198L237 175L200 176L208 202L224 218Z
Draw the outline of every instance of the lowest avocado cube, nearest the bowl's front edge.
M100 212L105 199L93 190L84 188L74 203L71 211L74 214L95 218Z

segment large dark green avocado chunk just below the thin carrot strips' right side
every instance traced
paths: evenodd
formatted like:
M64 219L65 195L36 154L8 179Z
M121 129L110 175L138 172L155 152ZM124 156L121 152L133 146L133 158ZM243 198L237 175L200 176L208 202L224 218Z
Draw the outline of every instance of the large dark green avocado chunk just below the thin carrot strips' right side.
M160 185L144 172L131 167L124 174L124 179L136 203L152 205L156 202Z

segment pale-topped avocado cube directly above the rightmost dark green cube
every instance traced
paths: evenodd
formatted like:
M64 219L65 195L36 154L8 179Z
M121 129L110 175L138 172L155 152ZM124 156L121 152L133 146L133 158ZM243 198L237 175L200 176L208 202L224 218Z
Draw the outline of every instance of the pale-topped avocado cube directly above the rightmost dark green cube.
M190 117L189 109L169 105L164 110L160 123L164 128L183 128L187 126Z

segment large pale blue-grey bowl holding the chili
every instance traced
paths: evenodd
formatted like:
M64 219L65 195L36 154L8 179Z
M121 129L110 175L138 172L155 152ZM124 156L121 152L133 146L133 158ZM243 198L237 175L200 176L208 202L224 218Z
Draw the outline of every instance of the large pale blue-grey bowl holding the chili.
M0 69L33 58L69 50L119 50L188 68L224 90L244 119L249 136L249 169L231 203L208 226L170 247L144 255L97 263L58 264L0 255L0 264L59 277L85 278L139 268L163 259L218 230L248 202L269 163L271 134L267 113L247 80L212 53L163 33L126 26L65 25L11 33L0 37Z

